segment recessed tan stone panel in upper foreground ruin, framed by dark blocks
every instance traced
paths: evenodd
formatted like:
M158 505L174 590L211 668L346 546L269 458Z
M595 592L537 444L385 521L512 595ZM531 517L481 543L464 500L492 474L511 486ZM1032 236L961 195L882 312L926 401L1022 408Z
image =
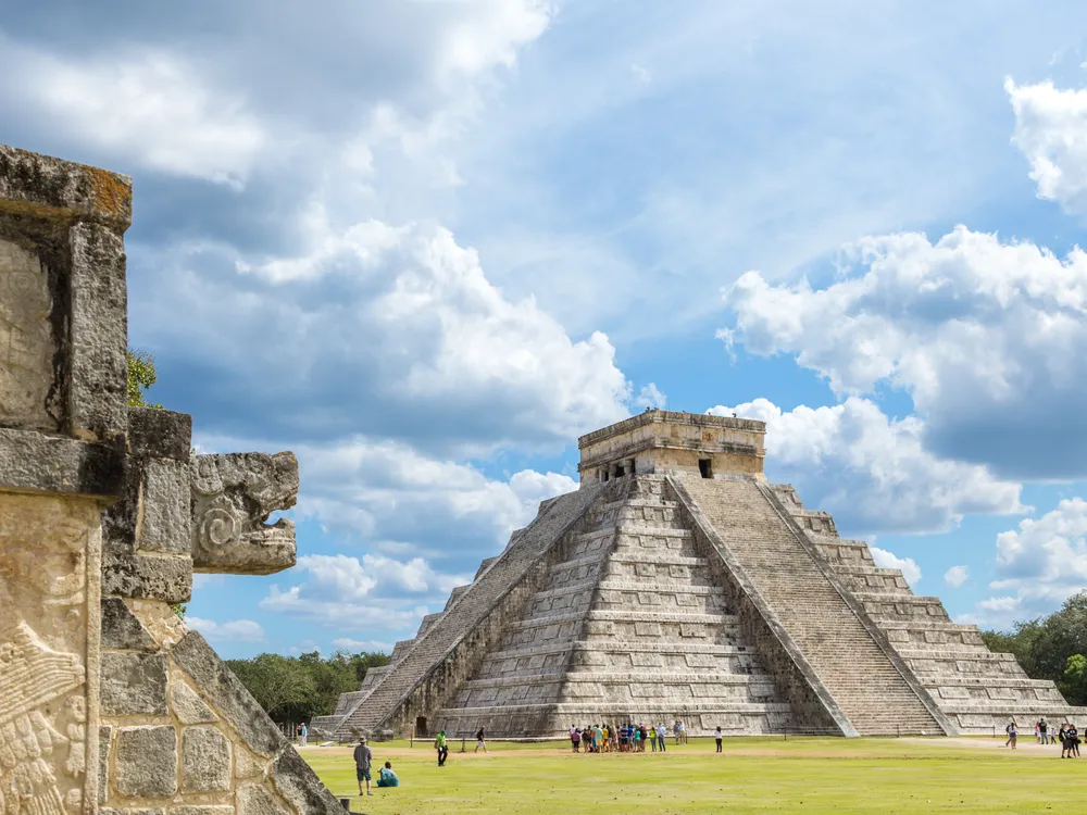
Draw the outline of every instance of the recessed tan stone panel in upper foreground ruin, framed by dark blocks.
M0 240L0 424L50 429L52 299L38 258Z

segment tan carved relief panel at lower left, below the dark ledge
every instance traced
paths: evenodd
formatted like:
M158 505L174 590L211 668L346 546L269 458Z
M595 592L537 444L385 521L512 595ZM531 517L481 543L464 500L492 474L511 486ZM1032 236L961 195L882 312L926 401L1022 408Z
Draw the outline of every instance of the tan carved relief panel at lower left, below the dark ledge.
M78 813L98 506L0 494L0 813ZM95 599L97 601L97 598Z

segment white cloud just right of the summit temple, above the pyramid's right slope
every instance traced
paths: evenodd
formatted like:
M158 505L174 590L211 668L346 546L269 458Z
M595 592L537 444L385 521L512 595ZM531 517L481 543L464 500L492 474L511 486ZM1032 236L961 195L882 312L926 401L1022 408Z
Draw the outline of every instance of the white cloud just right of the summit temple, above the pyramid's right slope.
M967 514L1025 511L1019 485L936 457L921 443L922 422L888 419L865 399L788 412L757 399L709 413L765 422L770 477L794 484L805 506L830 512L851 535L938 531Z

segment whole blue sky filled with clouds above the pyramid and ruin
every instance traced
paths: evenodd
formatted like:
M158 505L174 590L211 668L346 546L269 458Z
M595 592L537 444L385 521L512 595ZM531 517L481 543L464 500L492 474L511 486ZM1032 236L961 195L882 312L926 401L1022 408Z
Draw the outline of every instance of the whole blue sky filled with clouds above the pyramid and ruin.
M1087 586L1087 8L24 4L0 140L129 173L132 342L205 451L293 450L228 656L386 649L664 404L917 593Z

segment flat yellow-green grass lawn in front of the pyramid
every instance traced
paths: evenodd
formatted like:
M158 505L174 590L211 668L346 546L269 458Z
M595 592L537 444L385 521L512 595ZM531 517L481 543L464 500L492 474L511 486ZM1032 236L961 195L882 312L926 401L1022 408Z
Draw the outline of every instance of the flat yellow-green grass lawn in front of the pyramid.
M1078 810L1087 757L1022 739L691 739L664 755L574 755L569 743L490 743L474 755L450 745L438 768L429 743L374 743L392 762L396 789L358 797L351 748L301 751L354 813L992 813ZM1045 791L1045 801L1038 800ZM1063 800L1062 800L1063 799ZM603 810L599 807L603 806Z

